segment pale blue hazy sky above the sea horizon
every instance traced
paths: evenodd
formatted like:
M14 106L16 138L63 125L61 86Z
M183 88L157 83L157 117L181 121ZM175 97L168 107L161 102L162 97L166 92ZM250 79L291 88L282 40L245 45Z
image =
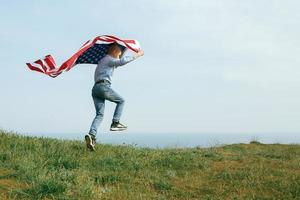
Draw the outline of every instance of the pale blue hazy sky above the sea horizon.
M144 57L117 69L121 122L133 133L300 132L300 2L296 0L0 0L0 128L87 133L95 65L53 79L89 39L136 39ZM99 132L108 132L107 102Z

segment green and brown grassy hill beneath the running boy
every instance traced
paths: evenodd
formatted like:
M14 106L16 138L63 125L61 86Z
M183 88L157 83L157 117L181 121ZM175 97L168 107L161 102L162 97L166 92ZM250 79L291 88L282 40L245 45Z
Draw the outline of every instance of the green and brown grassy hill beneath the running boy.
M300 145L96 148L0 131L0 199L300 199Z

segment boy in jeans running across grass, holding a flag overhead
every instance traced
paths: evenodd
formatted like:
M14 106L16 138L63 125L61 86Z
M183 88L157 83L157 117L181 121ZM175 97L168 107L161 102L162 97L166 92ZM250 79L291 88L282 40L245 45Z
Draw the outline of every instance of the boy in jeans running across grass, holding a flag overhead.
M122 51L118 44L111 44L108 48L107 55L98 62L95 70L95 85L92 89L92 97L96 108L96 116L92 122L89 133L85 135L87 148L91 151L95 150L97 129L103 120L105 100L117 104L110 131L123 131L127 129L127 126L120 123L125 100L111 88L112 76L115 68L143 56L144 52L140 50L135 56L124 56L120 58L121 54Z

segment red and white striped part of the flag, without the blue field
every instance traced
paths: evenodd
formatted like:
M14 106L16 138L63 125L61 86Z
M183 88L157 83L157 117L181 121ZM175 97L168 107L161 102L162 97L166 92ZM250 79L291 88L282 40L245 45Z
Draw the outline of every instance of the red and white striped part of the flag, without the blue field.
M33 63L26 63L26 65L33 71L41 72L55 78L62 72L69 71L72 67L74 67L77 58L94 44L110 44L114 42L125 46L133 52L138 52L141 49L140 44L137 40L122 40L115 36L102 35L84 43L82 47L60 67L56 66L55 60L51 55L47 55L44 58L39 59Z

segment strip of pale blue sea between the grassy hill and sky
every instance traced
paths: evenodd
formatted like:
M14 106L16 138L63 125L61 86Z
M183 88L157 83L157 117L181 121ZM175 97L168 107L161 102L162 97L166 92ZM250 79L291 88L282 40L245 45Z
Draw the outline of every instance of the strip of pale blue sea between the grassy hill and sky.
M79 133L36 133L25 134L67 140L84 140L84 134ZM97 135L97 143L115 145L133 145L138 147L165 148L165 147L212 147L234 143L249 143L257 140L265 144L300 144L300 134L296 133L130 133L107 132Z

